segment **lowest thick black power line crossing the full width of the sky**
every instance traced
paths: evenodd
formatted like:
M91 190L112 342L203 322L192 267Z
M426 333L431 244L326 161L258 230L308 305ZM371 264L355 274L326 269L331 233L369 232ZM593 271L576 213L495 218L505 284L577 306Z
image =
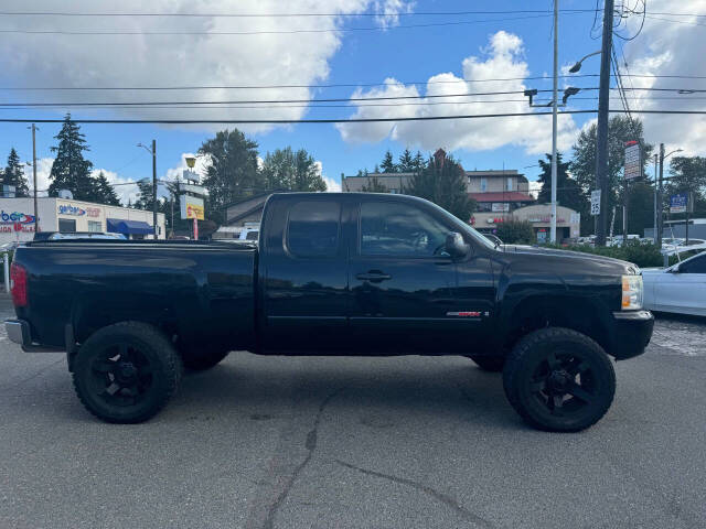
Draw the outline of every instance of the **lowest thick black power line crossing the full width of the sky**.
M558 114L596 114L598 110L564 110ZM609 110L612 114L622 110ZM637 114L663 115L706 115L706 110L635 110ZM506 112L506 114L473 114L464 116L420 116L397 118L331 118L331 119L72 119L75 123L84 125L293 125L293 123L371 123L396 121L438 121L450 119L483 119L510 118L520 116L550 116L552 112ZM63 123L64 119L24 119L0 118L3 123Z

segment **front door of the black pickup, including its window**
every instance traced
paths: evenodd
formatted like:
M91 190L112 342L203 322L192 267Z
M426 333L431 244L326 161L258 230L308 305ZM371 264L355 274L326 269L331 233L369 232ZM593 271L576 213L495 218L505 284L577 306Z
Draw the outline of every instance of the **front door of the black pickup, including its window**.
M354 215L349 282L355 347L400 354L482 349L492 270L473 246L460 260L445 251L447 235L459 226L414 201L373 195L360 199Z

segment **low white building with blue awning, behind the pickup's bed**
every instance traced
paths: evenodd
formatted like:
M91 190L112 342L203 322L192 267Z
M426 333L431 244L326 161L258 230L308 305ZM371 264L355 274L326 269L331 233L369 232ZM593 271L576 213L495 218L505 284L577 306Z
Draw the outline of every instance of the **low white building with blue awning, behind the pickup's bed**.
M129 238L152 238L152 212L90 202L38 198L40 231L111 231ZM31 197L0 198L0 244L32 240L35 231ZM164 214L157 214L158 238L165 236Z

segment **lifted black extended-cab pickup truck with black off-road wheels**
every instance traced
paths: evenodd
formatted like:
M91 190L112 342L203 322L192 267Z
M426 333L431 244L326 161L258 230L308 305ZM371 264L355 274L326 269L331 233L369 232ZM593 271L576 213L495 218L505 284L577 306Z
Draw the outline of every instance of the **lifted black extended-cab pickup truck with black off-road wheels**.
M78 398L119 423L154 415L182 369L263 355L461 355L503 371L530 424L578 431L610 407L609 358L653 316L629 262L499 246L410 196L275 194L258 245L57 240L17 249L24 350L62 350Z

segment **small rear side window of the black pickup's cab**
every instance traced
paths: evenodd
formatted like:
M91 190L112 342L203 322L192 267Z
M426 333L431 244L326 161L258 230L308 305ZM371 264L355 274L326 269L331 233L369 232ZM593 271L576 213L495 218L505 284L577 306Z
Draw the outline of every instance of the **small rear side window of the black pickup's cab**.
M289 210L287 248L297 257L333 257L339 249L341 205L302 201Z

